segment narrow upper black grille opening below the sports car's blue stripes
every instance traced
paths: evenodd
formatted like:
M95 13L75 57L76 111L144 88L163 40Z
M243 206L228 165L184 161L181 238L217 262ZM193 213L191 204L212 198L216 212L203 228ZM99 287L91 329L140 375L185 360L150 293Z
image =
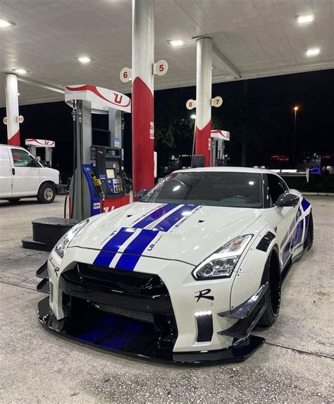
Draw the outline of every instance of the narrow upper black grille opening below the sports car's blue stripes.
M124 271L78 262L76 270L83 283L110 288L135 295L168 295L168 290L158 275Z

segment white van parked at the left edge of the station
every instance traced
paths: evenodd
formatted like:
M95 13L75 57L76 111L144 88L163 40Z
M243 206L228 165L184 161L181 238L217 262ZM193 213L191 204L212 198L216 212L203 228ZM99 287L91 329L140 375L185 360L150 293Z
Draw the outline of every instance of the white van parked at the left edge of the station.
M51 203L60 189L59 171L43 167L23 147L0 145L1 200L37 197L40 203Z

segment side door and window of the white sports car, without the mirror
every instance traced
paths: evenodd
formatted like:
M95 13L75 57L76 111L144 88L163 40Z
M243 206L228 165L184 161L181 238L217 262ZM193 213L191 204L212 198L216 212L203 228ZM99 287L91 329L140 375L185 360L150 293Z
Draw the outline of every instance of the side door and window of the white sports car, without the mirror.
M285 181L275 174L268 174L268 196L270 208L268 209L268 220L273 228L276 228L276 237L280 247L280 263L283 265L290 257L290 242L295 226L295 217L298 210L295 207L278 207L276 202L283 192L289 192Z

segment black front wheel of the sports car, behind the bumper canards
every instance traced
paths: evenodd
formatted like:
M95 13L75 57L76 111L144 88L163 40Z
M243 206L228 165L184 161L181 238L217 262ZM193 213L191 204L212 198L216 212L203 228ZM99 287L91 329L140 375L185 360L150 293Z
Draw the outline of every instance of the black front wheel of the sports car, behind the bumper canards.
M266 311L258 323L258 325L262 327L273 325L280 311L280 264L276 250L271 250L264 267L262 284L266 282L269 282L268 289L263 297L263 301L266 303Z

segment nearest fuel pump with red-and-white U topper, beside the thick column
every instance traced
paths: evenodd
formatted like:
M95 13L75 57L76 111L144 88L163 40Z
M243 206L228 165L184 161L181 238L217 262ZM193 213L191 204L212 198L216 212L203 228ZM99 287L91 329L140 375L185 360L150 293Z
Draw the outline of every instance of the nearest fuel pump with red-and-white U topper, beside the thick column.
M74 174L70 185L70 217L86 219L132 202L125 193L123 112L130 98L92 85L65 87L65 101L73 108ZM108 114L109 147L92 145L92 114Z

